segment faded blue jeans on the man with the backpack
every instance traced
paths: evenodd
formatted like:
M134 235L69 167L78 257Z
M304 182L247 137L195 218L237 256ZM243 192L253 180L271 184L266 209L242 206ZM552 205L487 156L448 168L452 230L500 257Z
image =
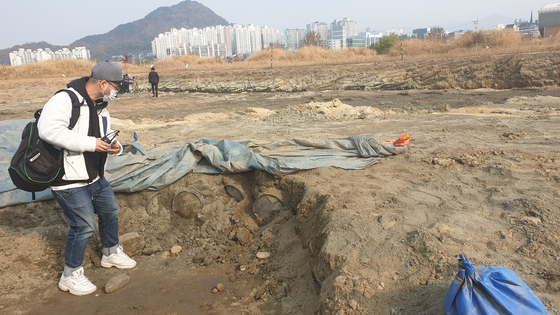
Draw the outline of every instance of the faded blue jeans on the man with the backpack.
M82 265L87 243L95 232L95 214L103 248L118 245L117 215L120 207L111 184L105 178L85 187L53 190L52 194L62 207L66 223L70 226L64 257L66 266L78 268Z

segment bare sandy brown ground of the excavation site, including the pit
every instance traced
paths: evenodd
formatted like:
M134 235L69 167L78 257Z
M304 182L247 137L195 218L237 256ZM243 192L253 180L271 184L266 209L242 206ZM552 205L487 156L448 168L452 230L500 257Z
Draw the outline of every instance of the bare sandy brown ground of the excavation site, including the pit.
M514 270L551 314L560 314L560 90L549 73L558 69L531 54L506 59L532 58L525 74L510 74L516 82L540 83L500 90L443 83L434 89L432 76L430 89L422 87L426 73L454 73L450 65L466 67L472 58L419 62L408 72L417 74L416 89L399 91L178 93L166 84L188 78L160 73L160 97L143 83L144 91L110 104L121 142L131 142L134 132L149 150L203 138L395 140L408 132L412 139L406 154L364 170L189 174L159 192L119 194L121 234L137 233L128 235L136 236L138 266L101 268L95 236L84 266L98 290L85 297L57 288L67 233L59 206L2 208L0 313L443 314L457 272L454 256L462 253L474 265ZM488 62L505 64L498 59ZM346 80L352 69L388 76L399 65L339 68ZM483 73L465 74L473 86L477 77L505 80L503 68L480 67ZM313 71L324 70L282 75ZM527 73L530 80L522 80ZM221 75L192 74L207 81ZM254 75L237 71L230 79ZM1 81L1 119L31 117L67 81ZM273 196L268 204L263 195ZM179 196L194 200L196 215L180 215ZM122 274L130 282L106 293L103 286ZM218 283L224 290L213 293Z

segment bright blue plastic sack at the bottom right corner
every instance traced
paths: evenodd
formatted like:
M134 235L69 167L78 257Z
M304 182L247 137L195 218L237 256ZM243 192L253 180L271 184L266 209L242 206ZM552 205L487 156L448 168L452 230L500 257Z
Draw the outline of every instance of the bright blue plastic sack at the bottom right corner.
M459 272L443 300L447 314L548 314L539 298L513 270L473 266L465 256L457 258Z

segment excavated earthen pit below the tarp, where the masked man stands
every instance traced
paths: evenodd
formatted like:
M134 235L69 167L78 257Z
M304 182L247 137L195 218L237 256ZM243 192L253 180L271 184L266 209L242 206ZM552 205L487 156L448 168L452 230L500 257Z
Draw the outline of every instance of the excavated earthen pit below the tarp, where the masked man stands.
M117 199L121 242L138 266L130 271L100 268L96 233L84 267L98 291L83 299L118 299L123 309L147 313L312 314L321 308L320 283L332 272L318 263L316 252L323 237L318 210L326 197L306 195L304 183L260 171L188 174L160 191L117 194ZM44 255L31 262L39 286L19 290L30 296L35 289L46 291L26 303L7 297L1 304L22 314L69 314L59 302L74 297L56 288L67 232L61 209L51 200L1 211L3 230L27 239ZM2 268L15 271L18 265ZM130 283L106 294L105 282L123 272ZM161 281L170 287L162 289ZM218 282L224 290L212 293ZM179 292L187 292L183 286L189 283L191 298L185 298Z

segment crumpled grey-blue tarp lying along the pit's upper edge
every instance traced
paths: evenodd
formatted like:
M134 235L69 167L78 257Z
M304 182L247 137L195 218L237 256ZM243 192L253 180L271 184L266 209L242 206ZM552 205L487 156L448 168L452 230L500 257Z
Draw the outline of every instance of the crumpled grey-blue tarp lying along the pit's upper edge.
M15 188L8 167L29 120L0 121L0 207L31 202L31 193ZM266 144L251 140L187 142L180 148L146 150L139 143L125 145L123 155L109 159L106 178L115 192L155 191L188 173L232 174L262 170L286 175L326 166L363 169L381 157L406 151L406 146L363 136L347 139L280 139ZM50 190L37 200L52 198Z

